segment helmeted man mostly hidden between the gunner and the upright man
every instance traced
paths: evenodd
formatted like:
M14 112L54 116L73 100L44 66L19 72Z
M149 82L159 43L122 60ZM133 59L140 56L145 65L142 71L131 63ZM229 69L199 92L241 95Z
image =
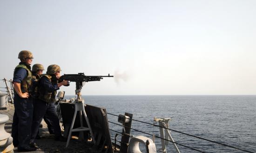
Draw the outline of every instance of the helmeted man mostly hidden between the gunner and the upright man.
M41 77L41 74L43 74L43 70L44 70L44 66L42 64L34 64L32 66L32 85L31 85L31 96L33 98L33 104L36 103L38 101L38 96L39 96L39 93L37 91L37 87L38 87L38 80L40 79ZM47 124L47 127L48 127L48 131L50 134L54 134L54 127L52 126L52 123L49 119L49 117L47 115L45 115L43 117L44 121L46 122ZM41 136L38 132L37 136L36 136L36 139L40 139Z

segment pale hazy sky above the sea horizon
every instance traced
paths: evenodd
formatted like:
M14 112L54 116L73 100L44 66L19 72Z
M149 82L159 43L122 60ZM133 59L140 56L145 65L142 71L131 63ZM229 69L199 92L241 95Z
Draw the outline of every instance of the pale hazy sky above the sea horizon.
M255 95L255 0L0 0L0 79L22 50L82 95ZM46 71L44 71L46 72ZM0 86L3 86L0 83ZM61 87L74 95L75 83Z

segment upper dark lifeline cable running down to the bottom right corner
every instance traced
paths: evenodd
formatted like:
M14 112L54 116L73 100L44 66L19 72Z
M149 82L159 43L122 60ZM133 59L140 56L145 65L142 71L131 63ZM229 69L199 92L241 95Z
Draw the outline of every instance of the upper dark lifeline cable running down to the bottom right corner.
M119 116L119 115L115 115L115 114L111 114L111 113L107 113L107 114L109 114L109 115L114 115L114 116ZM122 117L122 116L120 116L120 117ZM123 118L126 118L126 117L123 117ZM127 119L130 119L130 118L127 118ZM130 120L138 121L138 122L141 122L141 123L145 123L145 124L152 125L151 123L148 123L148 122L145 122L145 121L139 121L139 120L135 120L135 119L130 119ZM119 124L118 124L118 125L119 125ZM153 124L153 126L155 126L155 127L162 127L162 126L154 125L154 124ZM171 128L167 128L167 127L162 127L162 128L165 128L165 129L168 129L168 130L171 130L171 131L180 133L180 134L189 135L189 136L192 136L192 137L195 137L195 138L198 138L198 139L202 139L202 140L206 140L206 141L209 141L209 142L213 142L213 143L216 143L216 144L225 146L225 147L230 147L230 148L233 148L233 149L237 149L237 150L240 150L240 151L243 151L243 152L254 153L254 152L251 152L251 151L248 151L248 150L244 150L244 149L240 149L240 148L237 148L237 147L229 146L229 145L226 145L226 144L217 142L217 141L213 141L213 140L208 140L208 139L205 139L205 138L201 138L201 137L198 137L198 136L195 136L195 135L192 135L192 134L186 134L186 133L184 133L184 132L180 132L180 131L177 131L177 130L174 130L174 129L171 129Z

